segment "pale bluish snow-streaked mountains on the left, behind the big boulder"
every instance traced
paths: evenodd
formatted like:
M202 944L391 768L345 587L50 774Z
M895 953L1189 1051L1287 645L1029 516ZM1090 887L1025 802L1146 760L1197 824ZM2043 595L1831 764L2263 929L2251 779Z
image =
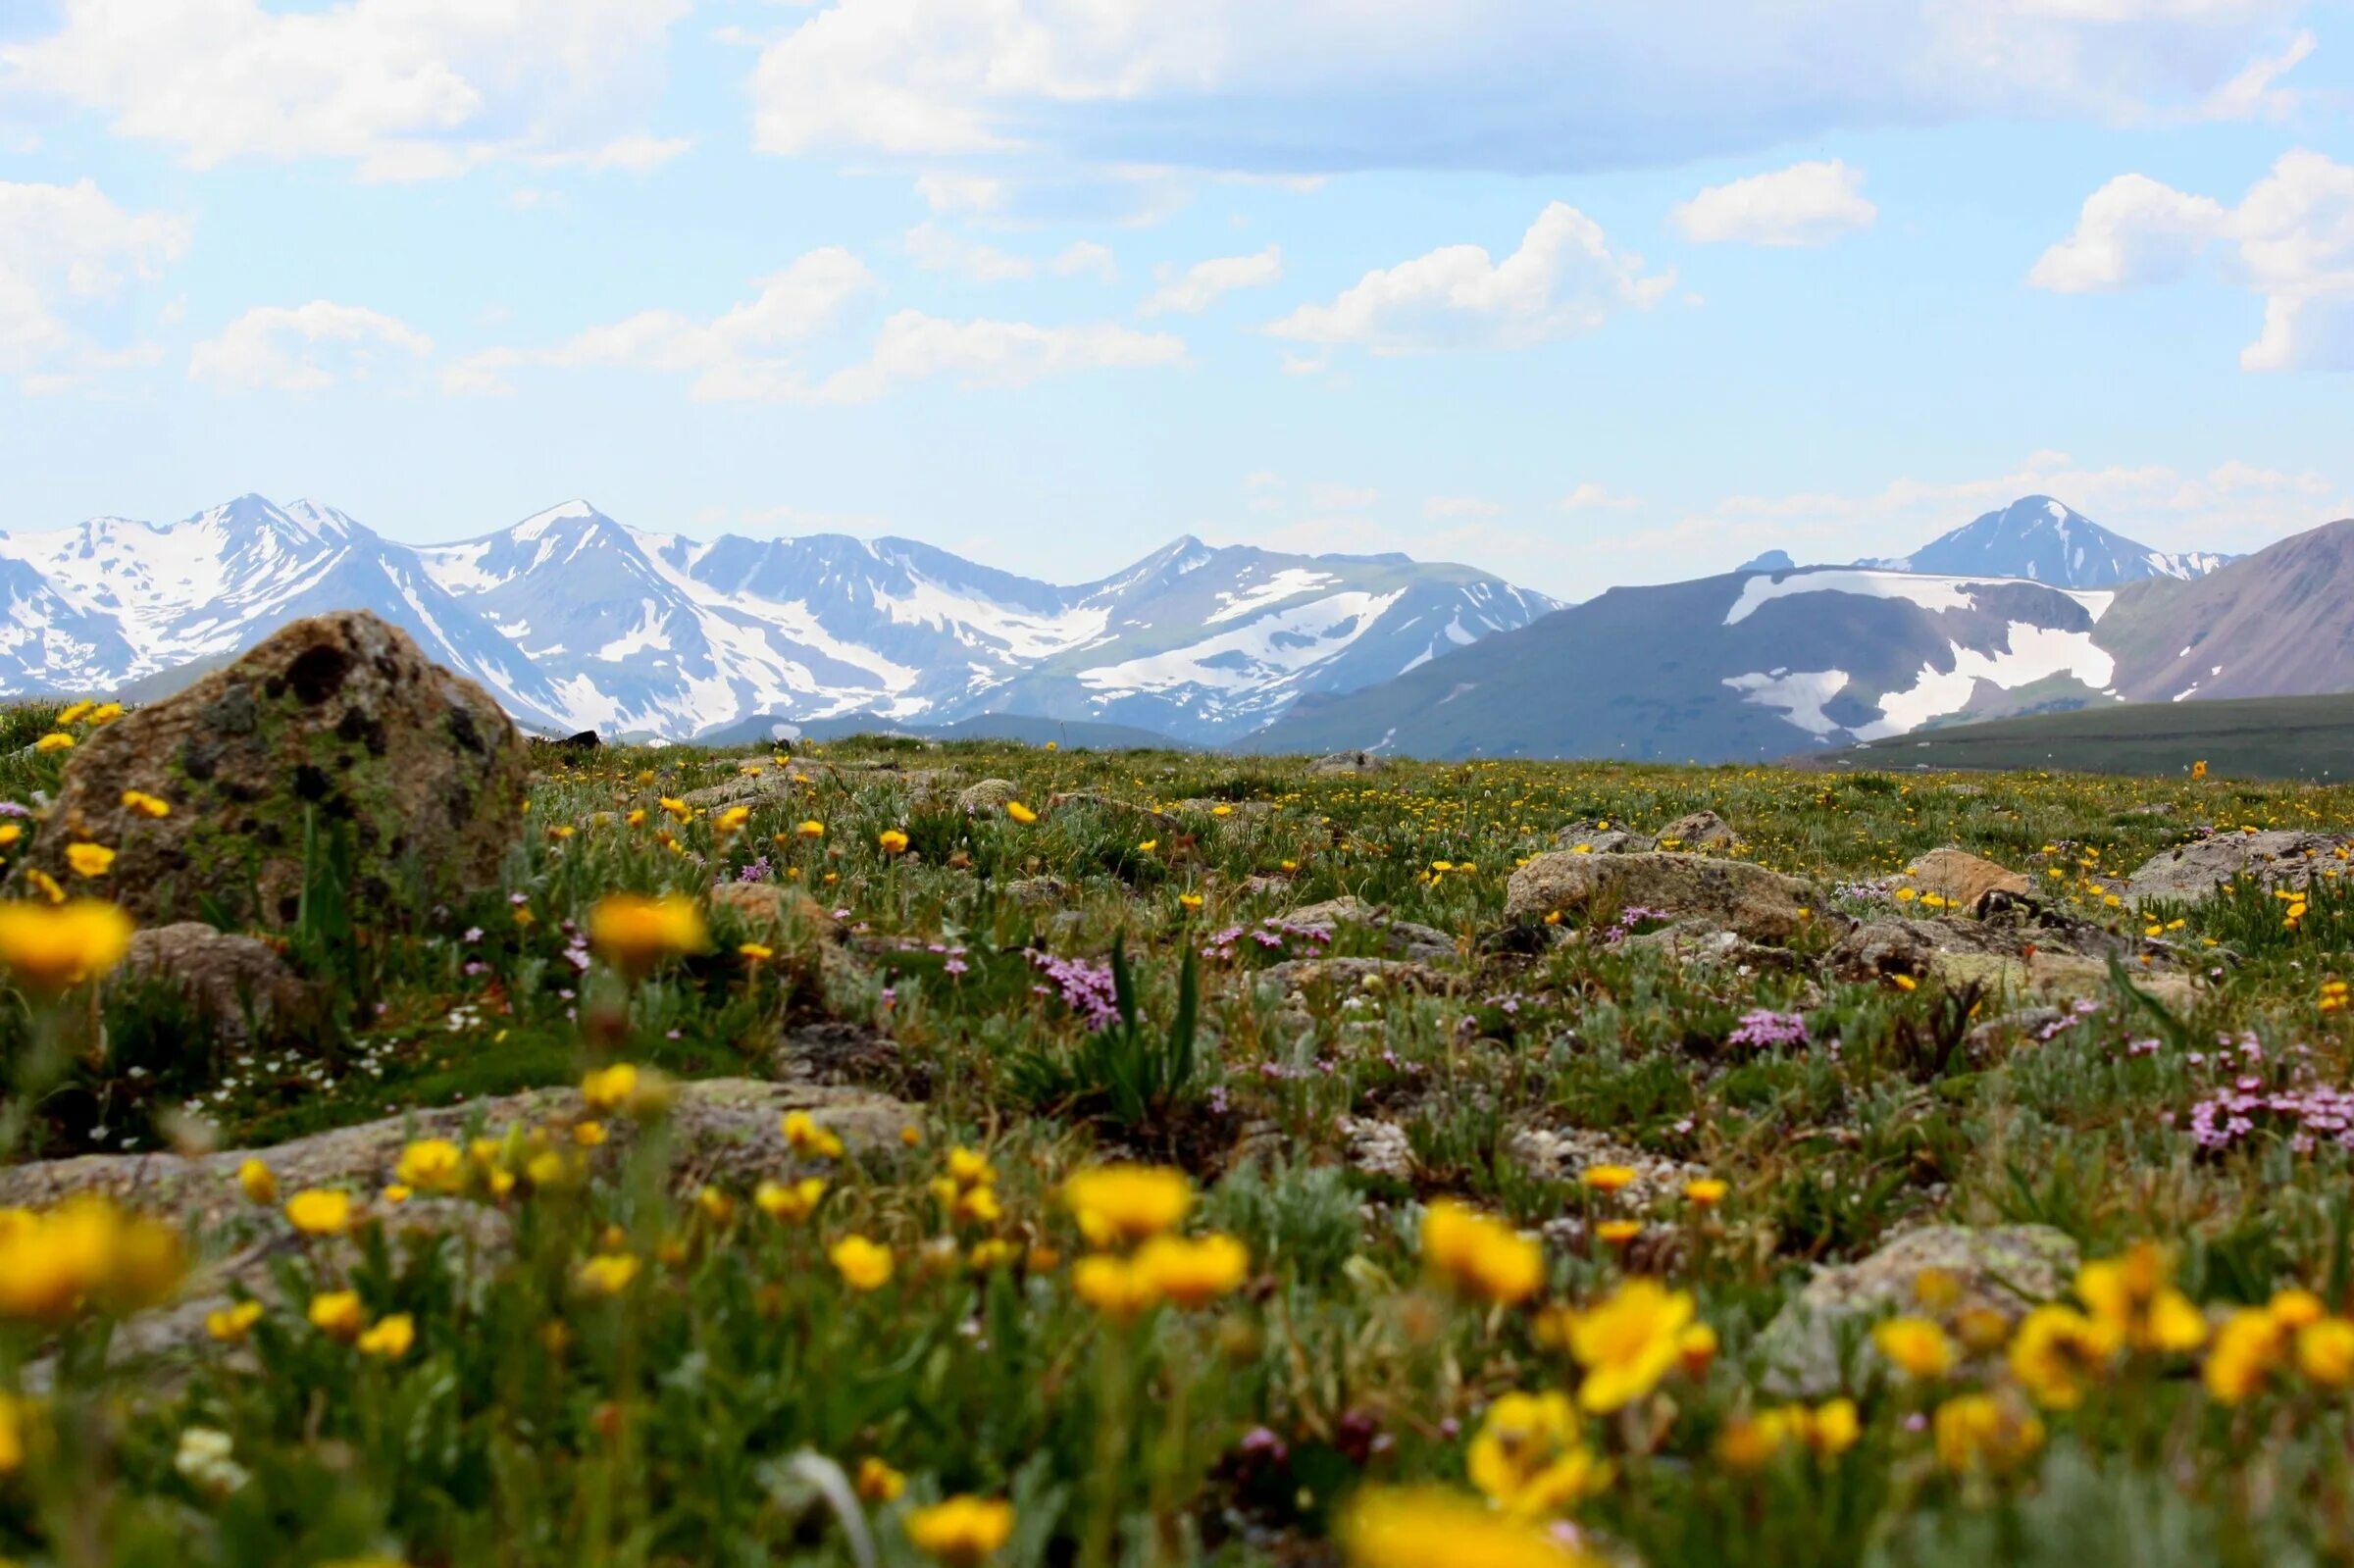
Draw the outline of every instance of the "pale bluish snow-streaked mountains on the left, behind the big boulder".
M0 692L113 690L304 614L374 610L523 723L666 737L1036 713L1219 742L1556 607L1403 556L1177 539L1057 586L909 539L643 532L586 501L410 546L257 494L0 537Z

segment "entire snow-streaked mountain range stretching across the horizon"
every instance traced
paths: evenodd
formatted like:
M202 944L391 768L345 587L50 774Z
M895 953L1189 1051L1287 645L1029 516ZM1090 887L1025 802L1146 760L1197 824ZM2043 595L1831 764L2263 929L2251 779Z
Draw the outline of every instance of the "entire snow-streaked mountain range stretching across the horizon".
M1259 751L1763 760L2112 702L2354 690L2354 523L2163 553L2022 497L1911 556L1561 605L1405 556L1177 539L1057 586L911 539L683 534L567 501L459 544L247 494L0 537L0 692L153 699L374 610L525 725L899 727Z

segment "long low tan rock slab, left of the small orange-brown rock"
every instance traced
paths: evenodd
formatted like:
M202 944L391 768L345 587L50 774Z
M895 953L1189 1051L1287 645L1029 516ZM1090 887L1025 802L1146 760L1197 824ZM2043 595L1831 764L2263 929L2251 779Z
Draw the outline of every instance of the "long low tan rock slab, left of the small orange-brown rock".
M1537 855L1504 883L1504 918L1542 918L1556 909L1657 909L1669 921L1700 921L1751 942L1787 942L1820 906L1820 892L1744 859L1711 855Z

